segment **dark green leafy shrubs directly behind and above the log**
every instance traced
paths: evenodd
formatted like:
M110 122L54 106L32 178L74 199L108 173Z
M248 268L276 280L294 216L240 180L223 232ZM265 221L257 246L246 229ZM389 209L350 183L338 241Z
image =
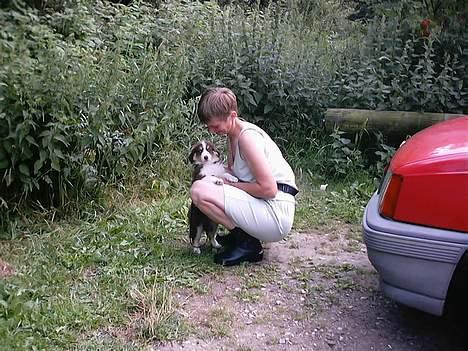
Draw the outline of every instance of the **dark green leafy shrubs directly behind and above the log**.
M411 1L376 17L361 53L344 63L331 85L329 106L460 113L467 108L468 34L455 21L428 37L408 14ZM457 27L457 28L455 28Z

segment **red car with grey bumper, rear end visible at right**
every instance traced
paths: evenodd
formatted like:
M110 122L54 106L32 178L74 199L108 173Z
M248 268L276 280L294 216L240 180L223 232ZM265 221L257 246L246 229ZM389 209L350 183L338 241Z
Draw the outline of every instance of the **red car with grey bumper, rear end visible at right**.
M363 236L386 295L443 314L456 269L468 267L468 116L398 149L366 207Z

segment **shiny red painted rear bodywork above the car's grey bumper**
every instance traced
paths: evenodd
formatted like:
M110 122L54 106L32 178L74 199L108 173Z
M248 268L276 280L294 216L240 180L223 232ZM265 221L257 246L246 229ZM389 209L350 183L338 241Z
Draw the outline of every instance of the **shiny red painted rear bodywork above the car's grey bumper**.
M389 170L403 179L394 220L468 233L468 116L416 133Z

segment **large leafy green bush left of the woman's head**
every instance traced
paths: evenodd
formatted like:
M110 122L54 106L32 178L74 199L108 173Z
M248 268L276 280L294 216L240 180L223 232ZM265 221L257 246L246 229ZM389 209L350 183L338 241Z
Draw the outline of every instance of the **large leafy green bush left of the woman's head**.
M3 204L64 205L185 131L186 60L161 50L155 10L94 6L0 12Z

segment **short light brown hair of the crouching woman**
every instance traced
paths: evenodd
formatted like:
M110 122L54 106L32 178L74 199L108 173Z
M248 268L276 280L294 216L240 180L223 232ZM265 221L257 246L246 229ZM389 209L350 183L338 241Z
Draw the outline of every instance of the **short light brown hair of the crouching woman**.
M237 112L237 98L228 88L209 88L203 92L198 102L197 114L203 123L209 122L213 117L225 119L232 111Z

